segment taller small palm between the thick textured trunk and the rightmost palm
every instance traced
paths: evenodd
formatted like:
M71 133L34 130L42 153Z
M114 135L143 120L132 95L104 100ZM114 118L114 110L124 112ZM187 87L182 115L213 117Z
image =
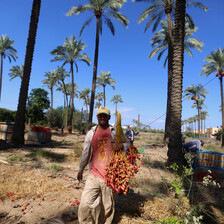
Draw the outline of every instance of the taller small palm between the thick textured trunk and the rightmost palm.
M191 86L187 87L184 90L184 93L186 93L184 95L185 98L187 98L188 100L194 100L194 104L197 107L198 110L198 134L199 134L199 138L200 138L200 107L202 105L202 99L201 97L205 98L206 94L208 94L208 91L204 88L204 86L202 86L201 84L198 84L197 86L194 86L194 84L192 84Z

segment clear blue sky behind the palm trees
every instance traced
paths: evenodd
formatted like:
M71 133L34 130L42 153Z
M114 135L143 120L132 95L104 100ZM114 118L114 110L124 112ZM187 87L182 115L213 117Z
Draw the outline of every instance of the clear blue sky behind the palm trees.
M6 34L14 40L14 48L18 53L16 62L9 63L7 59L4 60L0 108L17 109L21 80L10 81L8 73L12 66L24 64L32 2L31 0L0 2L0 35ZM92 60L90 66L78 62L79 72L75 73L75 82L79 86L79 90L91 88L95 50L95 20L86 27L82 36L79 37L82 25L89 14L65 16L72 6L87 2L86 0L42 1L29 92L33 88L45 88L49 91L46 87L42 87L41 81L45 79L45 72L54 70L61 65L61 62L50 62L53 58L50 52L57 46L63 45L65 37L70 38L71 35L75 35L78 40L82 40L87 45L84 52ZM224 1L204 0L202 2L209 8L208 12L187 8L187 12L198 27L194 37L203 41L205 45L202 52L193 50L193 58L185 54L183 89L191 84L205 85L205 89L209 92L205 100L207 106L205 110L209 114L206 127L217 127L221 125L219 80L217 78L212 80L215 74L206 78L199 76L199 73L205 64L203 60L206 56L219 47L223 48ZM122 124L132 124L132 120L138 119L138 114L140 114L140 121L143 124L163 129L166 111L167 69L163 68L164 57L161 61L157 61L156 57L148 58L152 51L150 44L150 39L153 37L152 30L149 28L144 33L146 21L141 24L137 23L138 17L147 6L148 4L145 3L133 3L128 0L121 9L121 12L130 20L128 28L124 28L120 23L114 21L115 36L106 26L103 26L103 35L100 36L97 75L100 75L100 71L110 71L111 77L117 81L115 90L106 86L106 106L114 112L115 105L110 100L114 94L121 95L124 102L118 104L118 110L121 113ZM65 68L69 70L69 66ZM210 82L210 80L212 81ZM102 89L97 89L97 91L102 91ZM81 109L83 106L83 101L75 99L74 103L77 109ZM54 108L62 105L62 93L54 91ZM197 114L196 109L191 106L192 101L183 100L183 120ZM94 111L94 121L96 120L95 115L96 111ZM111 122L114 122L114 116L112 116Z

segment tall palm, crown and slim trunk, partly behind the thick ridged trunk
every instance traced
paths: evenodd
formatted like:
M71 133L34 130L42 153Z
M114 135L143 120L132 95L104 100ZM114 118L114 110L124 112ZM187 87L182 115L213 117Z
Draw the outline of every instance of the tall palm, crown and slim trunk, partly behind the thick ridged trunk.
M174 14L175 0L133 0L134 2L150 2L151 5L146 8L140 15L138 22L141 23L148 17L150 18L145 26L145 32L154 23L153 32L157 29L160 21L167 15L168 25L168 83L167 83L167 109L166 109L166 122L165 122L165 135L164 140L169 138L169 124L170 124L170 107L171 107L171 92L172 92L172 69L173 69L173 34L172 34L172 15ZM205 11L207 8L199 2L187 2L189 5L199 7ZM186 21L189 22L191 28L194 28L194 22L189 14L185 14Z

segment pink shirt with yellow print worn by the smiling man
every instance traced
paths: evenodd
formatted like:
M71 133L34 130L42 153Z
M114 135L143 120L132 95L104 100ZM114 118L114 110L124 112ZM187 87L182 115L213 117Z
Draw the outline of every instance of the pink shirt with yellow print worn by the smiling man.
M110 128L102 130L96 129L91 145L93 147L93 156L91 162L90 174L97 175L99 178L105 180L105 167L110 160L113 140Z

